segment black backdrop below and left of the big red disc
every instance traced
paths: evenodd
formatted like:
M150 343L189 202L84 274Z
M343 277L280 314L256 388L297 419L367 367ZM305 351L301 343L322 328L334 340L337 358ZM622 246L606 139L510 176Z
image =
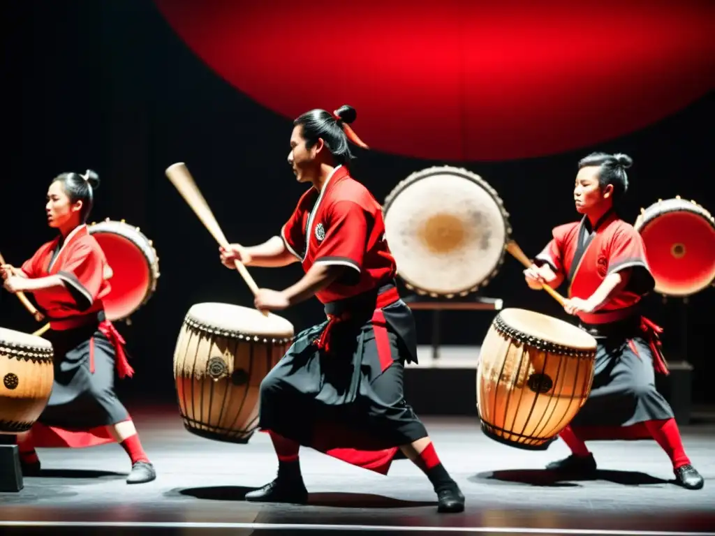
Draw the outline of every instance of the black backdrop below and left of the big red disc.
M159 254L157 292L119 330L127 339L134 379L119 392L174 397L172 354L187 309L218 301L251 306L236 272L218 261L217 245L164 176L187 162L227 237L255 244L277 234L305 186L286 164L290 118L278 116L215 75L174 34L149 0L12 1L4 25L4 163L0 252L19 265L53 237L43 215L46 187L60 172L102 179L90 221L126 219ZM287 79L287 91L290 79ZM324 106L330 106L325 104ZM320 106L320 104L317 104ZM435 162L360 152L353 174L380 201L410 173L438 164L466 167L487 180L511 213L513 237L533 256L556 224L576 219L572 185L578 159L593 150L625 152L636 165L622 210L634 222L640 207L680 194L715 212L712 187L712 93L656 124L578 151L511 162ZM536 126L535 126L536 128ZM546 128L546 126L544 126ZM359 119L355 129L360 133ZM565 317L543 292L523 282L521 265L505 259L482 294L506 307ZM300 266L252 269L262 287L284 288ZM680 359L681 300L648 298L649 316L666 328L669 359ZM696 402L715 402L710 336L713 291L689 299L689 353ZM320 319L317 300L282 312L296 331ZM416 312L420 344L430 339L428 312ZM493 314L444 314L446 344L480 344ZM0 325L39 327L19 301L0 292Z

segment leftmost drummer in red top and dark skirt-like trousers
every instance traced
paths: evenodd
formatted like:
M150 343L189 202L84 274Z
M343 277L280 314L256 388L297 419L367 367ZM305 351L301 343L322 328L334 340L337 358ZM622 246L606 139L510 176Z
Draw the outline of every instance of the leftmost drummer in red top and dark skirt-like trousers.
M63 173L47 191L49 227L59 236L44 244L21 269L4 265L9 292L32 292L49 318L45 334L54 347L54 385L36 425L18 436L24 475L40 473L35 447L91 447L118 442L132 460L129 484L156 478L134 422L114 393L114 369L132 376L124 340L104 317L102 298L110 290L97 240L87 231L99 177Z

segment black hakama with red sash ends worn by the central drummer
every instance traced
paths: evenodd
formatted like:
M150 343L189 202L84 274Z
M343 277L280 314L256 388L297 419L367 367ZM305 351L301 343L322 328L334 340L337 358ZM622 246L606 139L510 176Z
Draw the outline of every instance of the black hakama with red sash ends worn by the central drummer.
M262 430L383 473L400 445L428 435L403 394L404 364L417 360L415 322L395 287L380 289L388 292L395 299L385 307L374 293L327 304L329 316L346 318L297 334L261 383Z

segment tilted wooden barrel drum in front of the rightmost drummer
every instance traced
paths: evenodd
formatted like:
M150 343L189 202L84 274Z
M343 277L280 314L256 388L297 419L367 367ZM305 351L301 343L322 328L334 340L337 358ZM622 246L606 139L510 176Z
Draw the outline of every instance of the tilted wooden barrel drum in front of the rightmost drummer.
M546 450L591 392L596 339L572 324L504 309L482 343L477 409L491 439Z

